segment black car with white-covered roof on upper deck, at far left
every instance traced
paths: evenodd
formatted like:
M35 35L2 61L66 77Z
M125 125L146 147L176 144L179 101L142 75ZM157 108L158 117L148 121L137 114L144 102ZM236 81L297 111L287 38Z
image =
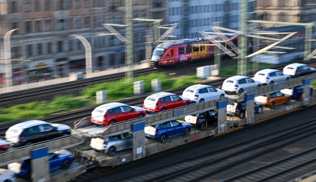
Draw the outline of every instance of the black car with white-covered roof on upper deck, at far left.
M29 146L70 134L71 128L68 125L31 120L11 126L5 132L5 139L14 146Z

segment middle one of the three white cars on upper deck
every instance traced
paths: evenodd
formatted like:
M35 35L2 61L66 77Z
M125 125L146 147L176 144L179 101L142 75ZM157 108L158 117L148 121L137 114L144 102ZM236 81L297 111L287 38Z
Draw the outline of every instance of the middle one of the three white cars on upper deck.
M223 82L222 90L227 94L240 94L261 87L261 82L248 76L231 76Z

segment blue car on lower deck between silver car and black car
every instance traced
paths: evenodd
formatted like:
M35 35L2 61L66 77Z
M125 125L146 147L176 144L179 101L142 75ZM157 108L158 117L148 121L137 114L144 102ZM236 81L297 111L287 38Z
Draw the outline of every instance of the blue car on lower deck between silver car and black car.
M153 126L145 127L145 137L158 139L165 143L167 138L179 135L188 136L191 132L191 125L176 120L167 121Z

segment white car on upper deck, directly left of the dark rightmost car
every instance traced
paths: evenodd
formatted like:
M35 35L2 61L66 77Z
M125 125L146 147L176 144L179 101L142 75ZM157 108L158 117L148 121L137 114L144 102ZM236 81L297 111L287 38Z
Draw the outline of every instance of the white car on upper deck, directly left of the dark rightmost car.
M285 74L279 70L273 70L273 69L261 70L257 72L255 76L253 77L254 80L260 81L263 85L280 83L290 78L291 76L289 74Z

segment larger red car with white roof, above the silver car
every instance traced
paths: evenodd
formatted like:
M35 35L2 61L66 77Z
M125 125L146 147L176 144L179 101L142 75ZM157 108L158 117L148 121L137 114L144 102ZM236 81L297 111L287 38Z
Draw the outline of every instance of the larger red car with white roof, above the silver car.
M141 107L122 103L108 103L95 108L91 113L91 122L96 125L109 126L129 119L145 117L146 111Z

